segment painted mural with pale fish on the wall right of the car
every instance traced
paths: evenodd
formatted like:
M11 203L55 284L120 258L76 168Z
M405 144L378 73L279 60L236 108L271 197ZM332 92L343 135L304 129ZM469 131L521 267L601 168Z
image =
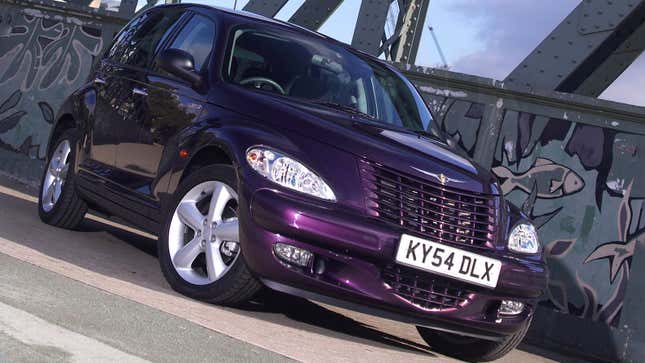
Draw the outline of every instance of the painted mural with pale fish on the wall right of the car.
M584 114L553 118L503 99L420 88L440 128L471 156L478 143L496 144L487 166L546 246L550 282L541 304L618 326L635 245L645 242L645 134L621 132L617 121L588 124Z

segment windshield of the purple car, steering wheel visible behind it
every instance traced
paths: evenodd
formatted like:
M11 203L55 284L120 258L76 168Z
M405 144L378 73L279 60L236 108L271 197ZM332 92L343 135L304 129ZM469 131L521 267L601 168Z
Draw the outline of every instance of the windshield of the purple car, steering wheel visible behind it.
M438 136L412 84L379 62L295 34L241 29L233 36L226 70L233 83Z

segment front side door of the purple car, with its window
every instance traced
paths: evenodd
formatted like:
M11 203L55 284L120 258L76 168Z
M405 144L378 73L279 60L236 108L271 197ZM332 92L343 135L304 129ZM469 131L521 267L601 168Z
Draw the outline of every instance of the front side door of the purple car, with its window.
M163 49L181 49L191 54L195 69L208 79L208 63L215 40L215 23L206 15L189 12L178 31ZM161 50L160 50L161 51ZM138 113L136 143L121 143L117 167L127 170L129 188L142 199L159 202L159 193L167 189L170 162L178 155L176 137L200 115L204 94L189 83L155 66L145 80L133 82L137 103L146 112ZM133 130L134 131L134 130Z

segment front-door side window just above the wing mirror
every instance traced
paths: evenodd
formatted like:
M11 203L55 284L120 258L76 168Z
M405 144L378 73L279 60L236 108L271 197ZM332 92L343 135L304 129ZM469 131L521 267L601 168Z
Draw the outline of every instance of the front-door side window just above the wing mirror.
M213 50L215 25L202 15L193 16L188 24L177 34L169 48L181 49L195 59L195 69L204 71L204 66Z

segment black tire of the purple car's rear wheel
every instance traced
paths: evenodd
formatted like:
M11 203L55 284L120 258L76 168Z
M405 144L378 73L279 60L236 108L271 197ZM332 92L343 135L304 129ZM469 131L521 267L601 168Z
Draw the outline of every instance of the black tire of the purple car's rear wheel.
M47 190L49 190L45 188L45 183L54 177L54 174L50 173L50 168L56 163L56 160L60 160L60 158L56 158L57 152L61 150L60 148L65 142L68 143L70 150L65 160L62 160L63 164L67 165L67 171L64 173L65 175L59 175L63 180L59 197L55 201L53 199L45 201L45 198L48 197ZM87 204L78 195L76 189L76 175L74 174L73 166L76 160L77 145L78 132L75 129L66 130L58 137L54 142L54 147L47 155L47 162L40 183L38 197L38 215L40 219L47 224L65 229L78 229L87 212ZM58 155L61 156L61 154ZM60 162L57 165L60 166Z

